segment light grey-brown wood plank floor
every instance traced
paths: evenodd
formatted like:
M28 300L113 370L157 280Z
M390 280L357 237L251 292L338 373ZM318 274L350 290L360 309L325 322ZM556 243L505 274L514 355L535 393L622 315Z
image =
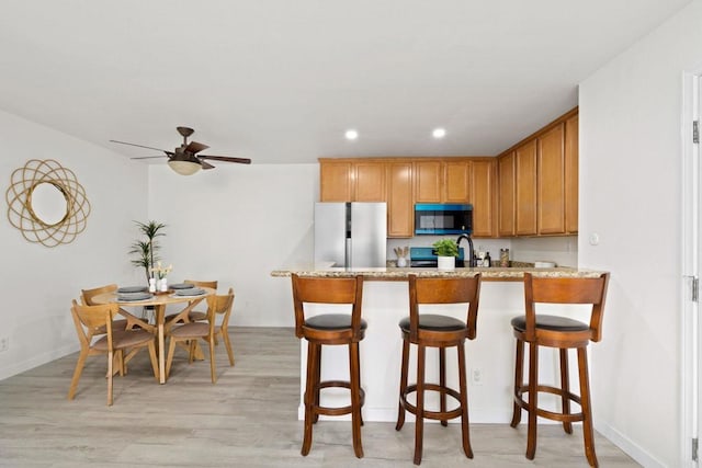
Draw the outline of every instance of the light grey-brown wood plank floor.
M207 361L177 353L166 385L147 353L115 377L105 406L103 358L89 358L73 401L66 399L77 354L0 381L2 467L411 467L414 424L363 426L365 458L351 446L351 423L320 421L312 452L299 455L299 342L292 329L233 328L236 366L217 346L216 385ZM205 351L206 352L206 351ZM361 363L363 365L363 363ZM398 369L399 372L399 369ZM540 426L536 459L524 458L525 426L472 424L475 458L461 450L456 424L424 426L422 467L587 467L579 429ZM638 466L596 434L600 466Z

